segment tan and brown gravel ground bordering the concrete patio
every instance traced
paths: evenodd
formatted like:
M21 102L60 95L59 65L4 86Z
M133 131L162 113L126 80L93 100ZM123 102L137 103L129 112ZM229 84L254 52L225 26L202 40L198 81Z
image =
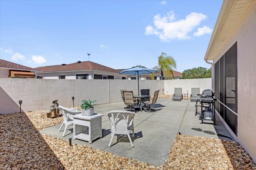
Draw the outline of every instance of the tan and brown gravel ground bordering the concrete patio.
M44 116L42 111L0 115L0 169L256 170L238 143L206 137L176 136L168 159L159 167L86 145L69 146L62 139L38 132L62 123L62 117L47 119Z

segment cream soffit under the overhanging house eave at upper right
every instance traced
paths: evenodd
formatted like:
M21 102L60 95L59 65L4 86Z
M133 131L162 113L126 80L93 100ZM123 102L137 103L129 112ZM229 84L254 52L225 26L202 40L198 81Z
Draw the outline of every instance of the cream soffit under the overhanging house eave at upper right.
M204 60L213 60L254 0L224 0Z

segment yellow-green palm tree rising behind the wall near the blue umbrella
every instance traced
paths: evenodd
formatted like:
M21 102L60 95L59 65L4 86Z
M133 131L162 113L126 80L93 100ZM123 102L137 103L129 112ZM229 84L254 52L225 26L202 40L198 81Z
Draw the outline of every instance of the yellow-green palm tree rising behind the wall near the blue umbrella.
M154 67L154 69L161 71L161 80L164 79L164 74L166 77L174 78L172 70L176 69L176 61L172 56L162 52L162 54L158 57L158 66Z

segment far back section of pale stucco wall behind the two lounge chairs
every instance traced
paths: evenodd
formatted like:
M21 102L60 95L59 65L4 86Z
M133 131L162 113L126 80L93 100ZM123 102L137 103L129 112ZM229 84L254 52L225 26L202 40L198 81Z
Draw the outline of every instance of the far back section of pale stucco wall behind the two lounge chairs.
M175 80L164 80L165 90L168 90L168 94L174 94L174 88L182 88L182 93L191 94L191 88L200 88L200 93L205 89L212 89L212 79L175 79ZM166 93L166 92L165 92Z

